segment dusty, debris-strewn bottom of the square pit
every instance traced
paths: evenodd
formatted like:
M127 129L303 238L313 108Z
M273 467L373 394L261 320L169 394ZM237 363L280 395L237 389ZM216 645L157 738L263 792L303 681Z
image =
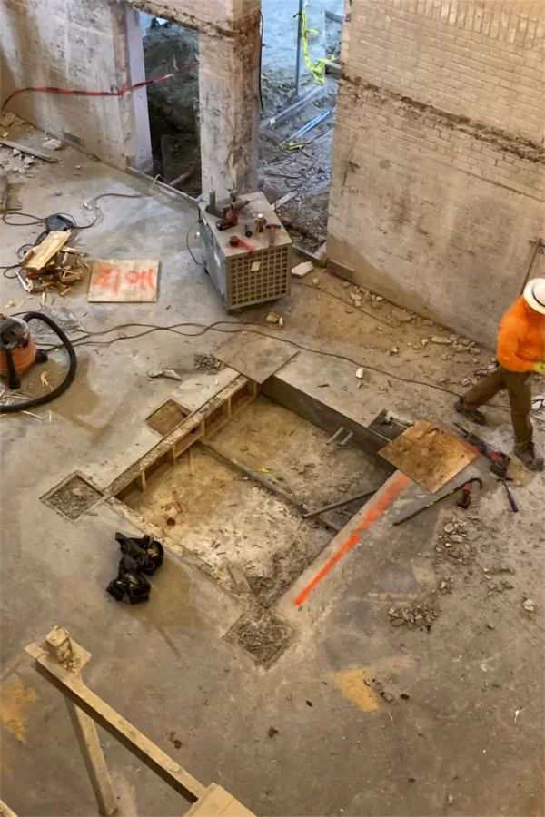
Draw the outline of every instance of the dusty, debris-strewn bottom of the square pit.
M303 519L307 510L378 488L386 468L352 447L328 445L322 429L260 397L213 437L228 457L263 475L293 504L194 445L174 468L125 501L171 541L199 556L224 586L240 586L270 606L332 539L333 529ZM177 512L176 507L182 507ZM341 529L363 500L324 515Z

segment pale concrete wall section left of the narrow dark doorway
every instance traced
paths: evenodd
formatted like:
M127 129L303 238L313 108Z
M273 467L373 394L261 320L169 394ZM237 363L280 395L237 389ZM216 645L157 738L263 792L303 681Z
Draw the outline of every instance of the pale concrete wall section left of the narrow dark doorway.
M142 50L138 13L124 5L1 0L1 99L28 85L110 91L140 82L143 64L129 54L129 43ZM138 113L147 116L145 91L120 98L19 94L9 110L104 162L149 162L149 133L135 127Z

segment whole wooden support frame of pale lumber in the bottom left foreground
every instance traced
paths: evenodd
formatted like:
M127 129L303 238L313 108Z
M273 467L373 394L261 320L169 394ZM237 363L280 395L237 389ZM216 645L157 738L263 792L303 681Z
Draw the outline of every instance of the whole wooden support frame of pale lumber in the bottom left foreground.
M93 784L96 801L104 815L114 814L117 801L107 771L104 753L98 740L95 723L122 743L142 763L157 774L175 792L193 803L191 814L253 817L242 803L218 785L204 786L182 766L175 763L155 743L139 732L132 723L106 704L85 684L81 669L91 655L76 644L63 627L55 627L45 637L45 645L25 647L35 660L35 669L46 681L64 695L74 731L84 756L85 766ZM202 808L201 808L202 805Z

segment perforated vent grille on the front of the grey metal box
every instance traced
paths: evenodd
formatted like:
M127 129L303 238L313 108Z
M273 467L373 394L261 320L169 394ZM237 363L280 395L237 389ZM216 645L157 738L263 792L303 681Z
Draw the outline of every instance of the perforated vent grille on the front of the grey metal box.
M282 298L289 292L290 247L246 253L227 263L227 308ZM255 270L259 264L259 270ZM252 266L254 271L252 271Z

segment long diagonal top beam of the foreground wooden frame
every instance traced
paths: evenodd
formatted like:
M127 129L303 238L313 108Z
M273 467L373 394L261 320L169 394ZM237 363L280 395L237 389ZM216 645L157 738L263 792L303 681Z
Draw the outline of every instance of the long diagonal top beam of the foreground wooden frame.
M102 698L85 686L81 677L66 670L38 644L25 647L26 652L35 659L37 672L58 689L64 697L78 706L84 714L98 723L111 734L115 740L124 745L142 763L157 774L175 792L189 802L196 802L206 792L205 787L182 766L175 763L168 754L156 746L145 735L136 729Z

